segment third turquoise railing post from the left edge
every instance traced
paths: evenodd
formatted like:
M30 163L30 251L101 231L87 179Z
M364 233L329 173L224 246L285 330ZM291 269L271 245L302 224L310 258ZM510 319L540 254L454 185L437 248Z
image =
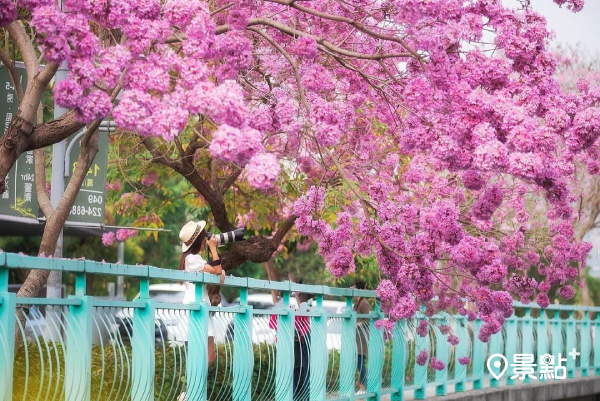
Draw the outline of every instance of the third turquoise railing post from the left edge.
M132 401L154 400L154 341L156 318L154 301L149 297L149 280L140 279L140 300L143 308L133 310Z

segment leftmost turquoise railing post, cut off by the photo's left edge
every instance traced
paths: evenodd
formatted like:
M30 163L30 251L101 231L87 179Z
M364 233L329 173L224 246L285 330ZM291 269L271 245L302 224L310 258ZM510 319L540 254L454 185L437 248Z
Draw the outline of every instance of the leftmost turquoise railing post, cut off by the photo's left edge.
M0 401L12 400L15 359L16 294L8 292L6 255L0 253Z

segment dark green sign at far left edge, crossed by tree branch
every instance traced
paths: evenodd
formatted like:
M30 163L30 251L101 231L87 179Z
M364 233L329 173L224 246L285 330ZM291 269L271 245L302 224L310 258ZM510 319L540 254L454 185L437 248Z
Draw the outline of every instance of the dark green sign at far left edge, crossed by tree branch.
M17 73L21 80L21 86L25 90L27 76L24 66L20 63L17 63ZM12 86L8 69L4 65L0 65L1 135L4 135L8 130L10 122L17 113L17 108L17 92ZM38 213L39 206L35 193L33 151L28 151L19 157L6 176L6 191L0 195L0 214L37 218Z

